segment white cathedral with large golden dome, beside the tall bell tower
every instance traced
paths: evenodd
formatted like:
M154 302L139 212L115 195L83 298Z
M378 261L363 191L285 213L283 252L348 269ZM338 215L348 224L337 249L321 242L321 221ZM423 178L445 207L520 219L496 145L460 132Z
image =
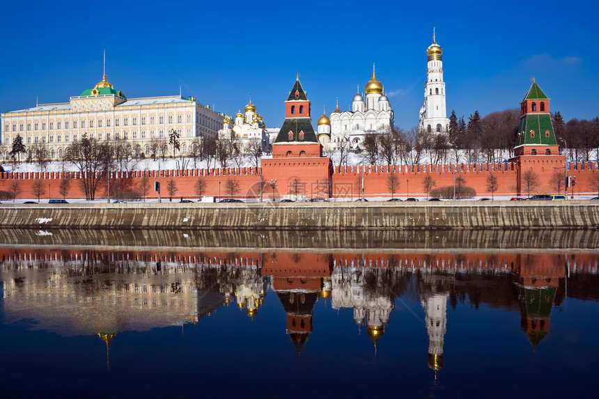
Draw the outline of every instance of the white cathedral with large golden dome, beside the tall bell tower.
M383 94L383 86L375 76L364 88L365 93L358 93L352 100L352 110L339 110L337 108L329 118L323 115L318 120L318 139L322 136L330 136L327 150L336 150L344 143L349 143L352 150L361 149L364 146L364 136L368 133L384 132L393 124L393 111L389 105L389 99ZM328 140L325 140L328 141Z

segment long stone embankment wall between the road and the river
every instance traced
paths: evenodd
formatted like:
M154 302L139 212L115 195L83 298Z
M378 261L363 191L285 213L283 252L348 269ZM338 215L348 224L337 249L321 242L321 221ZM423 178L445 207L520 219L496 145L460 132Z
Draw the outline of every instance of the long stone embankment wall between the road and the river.
M5 228L599 229L599 202L2 204Z

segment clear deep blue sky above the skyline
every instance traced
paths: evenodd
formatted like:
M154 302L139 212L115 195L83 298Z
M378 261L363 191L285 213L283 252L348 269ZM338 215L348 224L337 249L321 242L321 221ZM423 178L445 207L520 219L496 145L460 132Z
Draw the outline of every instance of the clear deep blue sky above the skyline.
M102 79L127 97L194 95L280 127L297 73L313 123L376 63L396 125L418 123L433 26L448 116L519 107L535 77L566 120L599 115L592 1L3 1L0 111L68 102Z

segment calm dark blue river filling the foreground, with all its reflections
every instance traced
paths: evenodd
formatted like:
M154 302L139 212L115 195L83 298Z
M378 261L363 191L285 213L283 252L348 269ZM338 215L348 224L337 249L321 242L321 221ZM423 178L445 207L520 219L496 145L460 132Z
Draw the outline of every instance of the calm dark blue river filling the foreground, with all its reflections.
M598 240L4 230L2 395L594 397Z

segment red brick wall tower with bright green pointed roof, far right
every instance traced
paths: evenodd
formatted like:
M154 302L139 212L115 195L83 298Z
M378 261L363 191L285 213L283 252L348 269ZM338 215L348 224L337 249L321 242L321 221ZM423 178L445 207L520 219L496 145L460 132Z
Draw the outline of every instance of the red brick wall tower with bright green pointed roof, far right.
M528 194L522 179L524 173L529 170L534 171L539 182L534 194L554 192L550 183L552 175L559 169L564 171L566 167L566 157L559 155L549 113L549 100L533 78L529 91L520 102L520 123L514 157L509 159L509 162L518 163L518 194Z

